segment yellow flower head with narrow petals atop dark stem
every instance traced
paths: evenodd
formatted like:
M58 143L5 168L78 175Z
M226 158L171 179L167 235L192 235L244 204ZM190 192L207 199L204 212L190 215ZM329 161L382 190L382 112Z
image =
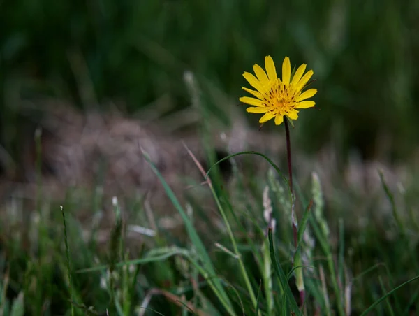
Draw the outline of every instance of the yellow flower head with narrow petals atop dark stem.
M258 64L253 65L256 77L251 73L243 73L243 77L249 81L250 85L256 90L242 89L256 96L251 98L249 96L242 96L240 101L247 103L252 107L247 108L249 113L265 113L260 118L260 123L265 123L272 118L275 118L275 124L279 125L284 122L286 115L291 120L297 120L298 110L300 108L311 108L316 104L314 101L307 101L307 99L317 93L317 89L308 89L302 92L302 89L307 85L307 82L313 76L312 70L307 71L306 64L298 67L293 78L291 78L291 64L290 59L285 57L282 64L282 80L277 77L277 70L275 69L272 57L265 57L266 73Z

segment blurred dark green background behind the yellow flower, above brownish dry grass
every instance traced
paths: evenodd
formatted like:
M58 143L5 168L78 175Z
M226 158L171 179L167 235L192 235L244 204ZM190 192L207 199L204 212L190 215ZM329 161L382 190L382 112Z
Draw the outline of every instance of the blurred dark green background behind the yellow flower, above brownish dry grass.
M321 111L294 131L307 152L406 159L419 136L418 16L413 0L0 1L1 145L19 152L22 100L112 100L130 114L165 96L181 109L191 70L238 103L243 71L272 55L314 69Z

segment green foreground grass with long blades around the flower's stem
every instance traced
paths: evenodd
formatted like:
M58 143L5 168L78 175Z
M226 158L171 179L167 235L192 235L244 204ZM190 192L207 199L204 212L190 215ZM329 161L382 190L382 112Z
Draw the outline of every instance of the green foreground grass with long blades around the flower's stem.
M260 153L254 157L272 162ZM115 200L115 227L106 256L94 240L82 238L81 227L71 217L71 204L64 206L61 224L55 213L41 212L47 217L32 223L36 225L32 231L44 232L37 237L43 252L25 253L16 232L7 239L2 235L3 315L19 315L19 310L72 315L96 315L98 311L110 315L132 315L137 311L144 315L152 310L162 315L191 310L197 315L289 315L291 311L295 315L407 315L415 308L418 291L412 284L418 278L418 257L413 251L403 254L397 250L402 246L414 249L413 239L402 238L411 236L413 227L403 220L388 187L383 194L392 196L392 207L399 213L396 227L402 235L362 244L346 238L343 221L331 224L333 220L325 217L321 181L314 174L311 190L307 191L310 199L302 193L305 190L296 190L304 212L300 215L295 249L287 184L275 175L274 169L263 180L259 198L257 192L252 194L259 203L258 215L235 209L235 201L221 190L214 193L214 199L230 229L200 236L192 224L192 215L184 210L152 161L149 164L182 216L189 242L176 244L159 233L147 237L156 238L154 246L145 247L140 254L129 254L122 224L124 213ZM240 179L239 169L234 176ZM257 190L258 186L253 188ZM243 189L249 188L238 181L237 190ZM276 224L263 216L269 205ZM193 213L197 217L193 222L199 221L198 210ZM374 231L374 227L368 227L358 234L367 238ZM355 259L358 253L367 255L371 244L381 258L375 266L372 257ZM45 252L47 247L50 252ZM297 294L298 278L304 278L304 305Z

